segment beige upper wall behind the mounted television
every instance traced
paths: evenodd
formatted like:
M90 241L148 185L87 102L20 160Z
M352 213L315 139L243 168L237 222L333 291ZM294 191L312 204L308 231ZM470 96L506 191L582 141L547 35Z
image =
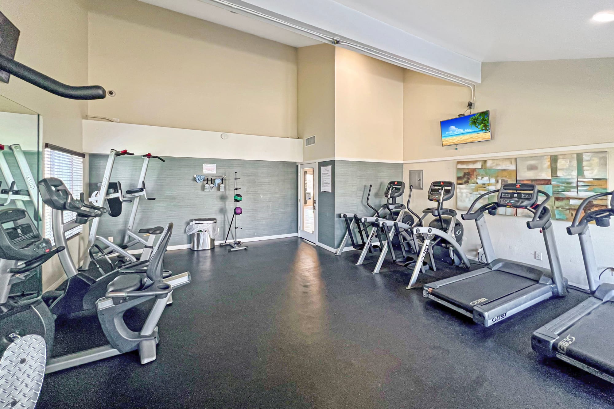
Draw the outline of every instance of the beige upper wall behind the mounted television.
M476 109L489 142L441 147L439 121L465 110L468 88L405 73L405 160L612 142L614 58L484 63Z

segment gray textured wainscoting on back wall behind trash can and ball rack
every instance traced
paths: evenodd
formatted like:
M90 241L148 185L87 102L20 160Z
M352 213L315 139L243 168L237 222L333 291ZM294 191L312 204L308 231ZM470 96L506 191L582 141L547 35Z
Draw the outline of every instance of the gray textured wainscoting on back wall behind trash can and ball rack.
M90 155L89 191L96 191L101 182L107 155ZM190 243L185 226L193 218L217 218L219 233L223 239L234 208L233 177L238 172L238 191L243 196L239 204L243 214L238 216L239 240L247 237L263 237L297 232L298 223L298 174L295 162L246 161L239 159L172 158L166 162L149 161L145 183L147 196L155 201L141 200L136 216L136 229L164 226L174 223L171 245ZM122 189L136 188L142 166L141 156L120 156L115 160L111 182L122 183ZM203 173L203 163L217 165L216 175L227 175L226 191L203 191L203 184L194 181L194 175ZM111 218L104 215L98 235L123 239L132 204L125 203L122 215ZM136 247L134 247L136 248Z

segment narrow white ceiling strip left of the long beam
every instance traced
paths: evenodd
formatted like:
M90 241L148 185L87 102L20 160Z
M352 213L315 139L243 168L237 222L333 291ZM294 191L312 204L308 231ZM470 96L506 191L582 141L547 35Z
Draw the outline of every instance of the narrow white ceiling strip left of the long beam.
M301 36L292 31L272 26L263 21L239 15L219 7L206 4L198 0L141 0L153 4L154 6L164 7L179 13L198 17L203 20L212 21L223 26L235 28L240 31L249 32L255 36L281 42L282 44L292 45L292 47L305 47L306 45L321 44L319 41L309 37Z

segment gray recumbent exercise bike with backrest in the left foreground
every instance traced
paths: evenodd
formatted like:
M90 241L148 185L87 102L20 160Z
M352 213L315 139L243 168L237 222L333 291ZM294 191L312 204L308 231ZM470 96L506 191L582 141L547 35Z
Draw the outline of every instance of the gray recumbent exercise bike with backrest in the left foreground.
M36 273L37 267L65 248L53 248L25 210L0 209L0 354L20 337L34 334L43 337L47 345L46 373L137 350L141 364L154 361L157 324L166 301L174 289L190 283L189 272L162 277L161 263L172 232L173 224L169 223L147 269L123 270L107 285L104 296L96 301L99 329L104 332L108 345L54 357L55 323L47 304L41 298L14 302L9 299L9 292L12 284ZM148 309L147 318L139 331L132 331L123 316L127 310L141 304ZM94 328L84 329L83 325L80 322L70 327L71 331L87 331L87 334L95 331Z

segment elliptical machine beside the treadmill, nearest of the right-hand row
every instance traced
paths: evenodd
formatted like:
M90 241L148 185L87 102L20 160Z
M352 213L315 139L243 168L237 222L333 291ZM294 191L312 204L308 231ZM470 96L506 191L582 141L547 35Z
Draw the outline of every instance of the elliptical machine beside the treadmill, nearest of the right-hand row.
M465 269L471 267L467 255L462 250L462 239L464 227L456 220L456 210L443 207L443 202L447 202L454 197L456 185L448 180L437 180L429 186L427 199L437 203L437 207L427 207L422 210L421 223L411 228L411 235L419 237L422 243L418 253L418 261L411 273L410 283L406 289L416 288L418 275L424 272L424 258L429 253L430 265L433 271L435 267L435 251L441 249L443 256L441 259L452 266L464 266ZM428 215L433 216L429 226L424 226L424 220Z

